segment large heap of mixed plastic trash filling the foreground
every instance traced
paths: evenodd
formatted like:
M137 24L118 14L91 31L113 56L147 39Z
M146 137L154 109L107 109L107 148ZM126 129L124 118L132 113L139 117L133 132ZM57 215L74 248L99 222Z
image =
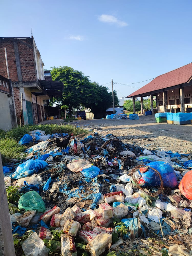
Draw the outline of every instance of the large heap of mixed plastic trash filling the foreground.
M22 193L13 234L32 230L25 255L192 254L190 153L149 151L102 131L61 149L55 138L68 136L45 137L25 161L3 167L6 186Z

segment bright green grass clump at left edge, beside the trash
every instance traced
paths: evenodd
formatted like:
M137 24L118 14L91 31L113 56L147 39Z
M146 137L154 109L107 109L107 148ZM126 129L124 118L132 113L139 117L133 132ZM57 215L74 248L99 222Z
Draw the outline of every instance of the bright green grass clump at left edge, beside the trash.
M3 164L9 162L12 158L20 159L21 153L25 150L26 148L19 145L18 141L14 139L8 137L0 139L0 153Z

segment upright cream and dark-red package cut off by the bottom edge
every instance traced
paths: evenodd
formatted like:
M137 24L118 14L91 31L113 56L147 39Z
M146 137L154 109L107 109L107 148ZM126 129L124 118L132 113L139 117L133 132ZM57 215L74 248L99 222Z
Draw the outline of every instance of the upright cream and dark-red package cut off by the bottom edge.
M77 256L75 241L73 236L61 234L61 255Z

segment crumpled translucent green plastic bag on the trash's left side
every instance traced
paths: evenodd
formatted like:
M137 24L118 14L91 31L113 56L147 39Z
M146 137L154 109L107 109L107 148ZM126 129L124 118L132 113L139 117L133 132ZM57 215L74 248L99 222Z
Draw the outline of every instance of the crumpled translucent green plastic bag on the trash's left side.
M36 191L29 191L22 195L19 199L19 209L26 211L37 210L38 212L45 211L45 203L41 196Z

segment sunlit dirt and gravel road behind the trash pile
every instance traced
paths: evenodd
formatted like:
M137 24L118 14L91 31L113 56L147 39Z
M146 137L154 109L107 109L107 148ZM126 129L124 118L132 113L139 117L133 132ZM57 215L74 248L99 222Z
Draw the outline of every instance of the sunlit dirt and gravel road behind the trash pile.
M73 122L85 129L97 129L106 135L112 133L125 143L134 143L147 149L172 150L177 152L192 151L192 125L169 125L155 123L155 115L139 116L139 120L93 119ZM51 121L46 121L51 123ZM61 120L52 120L61 123Z

